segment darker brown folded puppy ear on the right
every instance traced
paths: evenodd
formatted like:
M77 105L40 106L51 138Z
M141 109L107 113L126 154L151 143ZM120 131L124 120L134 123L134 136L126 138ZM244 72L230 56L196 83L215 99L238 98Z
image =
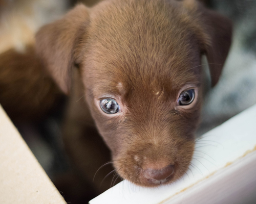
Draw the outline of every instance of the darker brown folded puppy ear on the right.
M211 86L215 86L231 45L232 22L227 17L206 9L196 0L185 0L184 5L194 13L201 50L209 63Z

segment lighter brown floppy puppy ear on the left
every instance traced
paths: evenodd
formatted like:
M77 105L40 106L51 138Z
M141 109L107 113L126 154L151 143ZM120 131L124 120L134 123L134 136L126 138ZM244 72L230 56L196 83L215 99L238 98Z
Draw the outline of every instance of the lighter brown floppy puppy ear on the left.
M71 87L71 68L75 49L89 24L88 9L77 5L62 19L42 27L36 34L36 50L60 89L66 94Z

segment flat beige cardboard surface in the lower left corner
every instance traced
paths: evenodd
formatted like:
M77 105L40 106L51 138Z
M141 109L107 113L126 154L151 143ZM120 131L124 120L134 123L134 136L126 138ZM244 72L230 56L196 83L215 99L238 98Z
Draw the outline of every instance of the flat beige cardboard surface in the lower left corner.
M66 203L1 106L0 202Z

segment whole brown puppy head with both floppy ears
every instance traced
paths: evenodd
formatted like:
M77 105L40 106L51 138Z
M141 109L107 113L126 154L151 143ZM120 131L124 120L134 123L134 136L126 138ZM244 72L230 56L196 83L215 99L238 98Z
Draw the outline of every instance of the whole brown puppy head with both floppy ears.
M36 36L64 92L79 66L117 172L141 186L170 183L187 170L202 100L201 56L214 86L230 41L230 21L193 0L78 5Z

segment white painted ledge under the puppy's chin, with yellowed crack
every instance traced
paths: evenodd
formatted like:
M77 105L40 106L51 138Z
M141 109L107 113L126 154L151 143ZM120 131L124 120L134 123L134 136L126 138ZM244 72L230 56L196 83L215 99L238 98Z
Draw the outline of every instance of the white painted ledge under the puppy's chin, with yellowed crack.
M123 181L90 204L256 203L256 105L204 134L179 181L142 188Z

